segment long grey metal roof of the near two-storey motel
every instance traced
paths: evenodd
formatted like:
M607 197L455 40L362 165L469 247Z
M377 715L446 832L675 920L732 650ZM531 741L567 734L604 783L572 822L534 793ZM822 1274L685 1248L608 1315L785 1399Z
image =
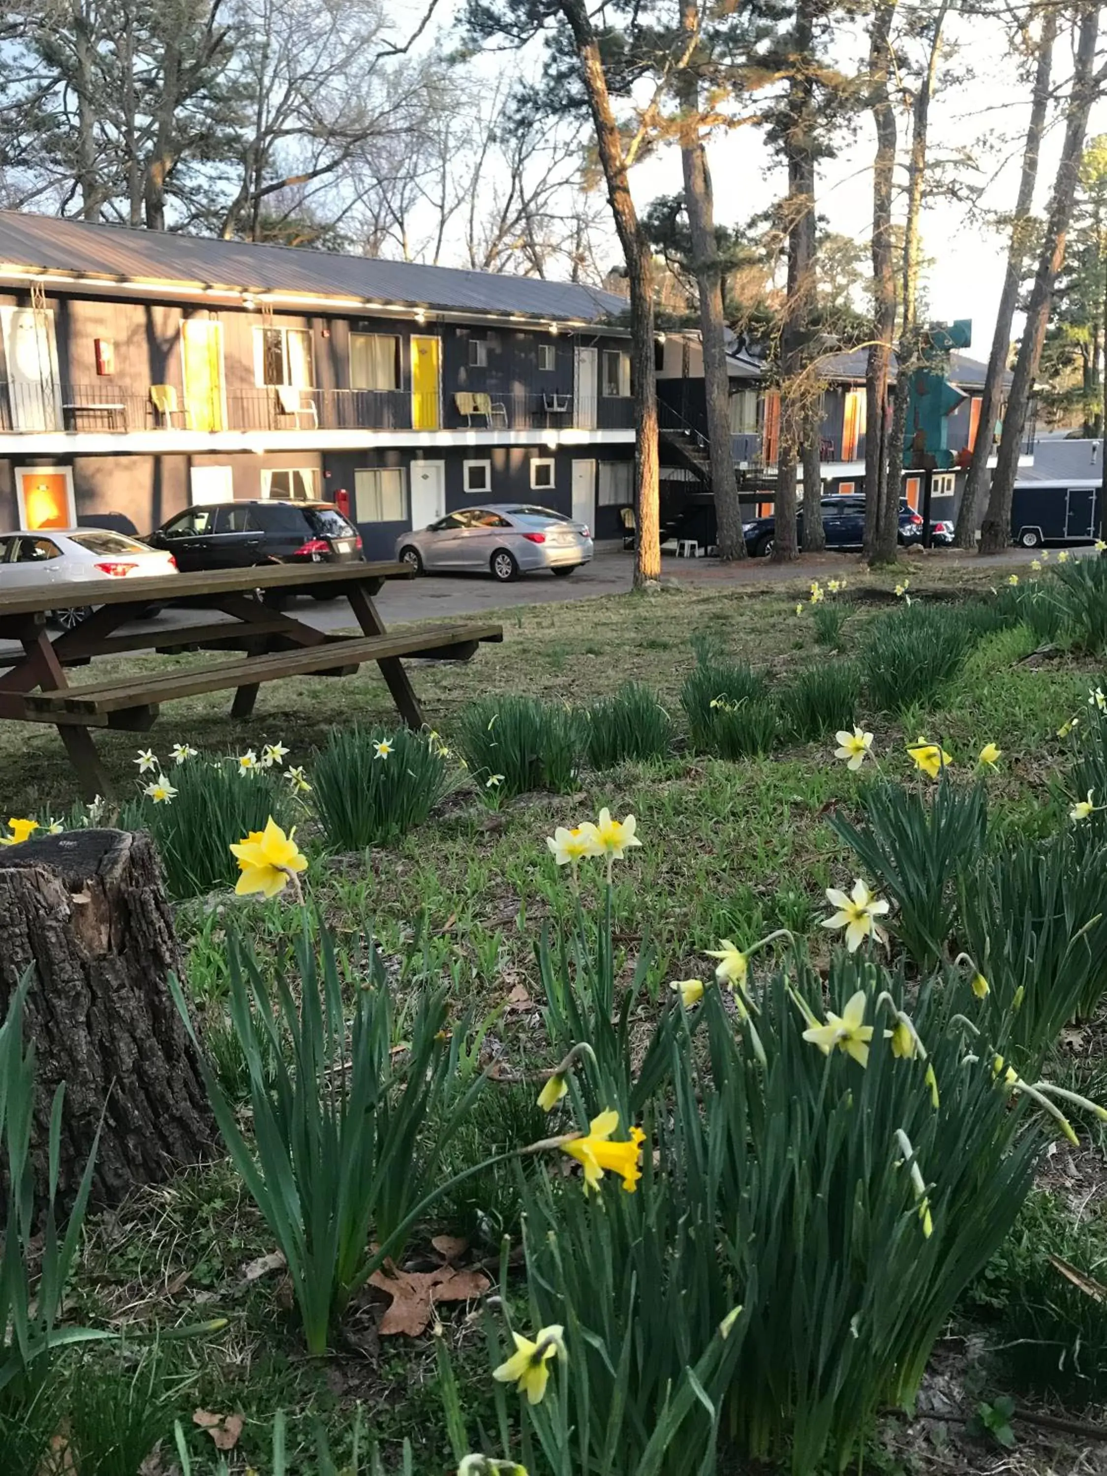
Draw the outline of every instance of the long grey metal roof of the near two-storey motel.
M618 319L629 307L624 298L579 282L100 226L19 211L0 211L0 275L4 266L140 282L151 288L151 297L173 297L174 286L280 292L583 323Z

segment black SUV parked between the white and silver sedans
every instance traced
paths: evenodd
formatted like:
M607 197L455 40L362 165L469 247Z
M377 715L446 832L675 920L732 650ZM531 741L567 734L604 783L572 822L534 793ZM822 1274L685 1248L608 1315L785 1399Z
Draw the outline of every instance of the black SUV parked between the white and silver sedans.
M215 502L186 508L146 542L168 549L182 574L254 564L342 564L363 556L357 528L331 502Z

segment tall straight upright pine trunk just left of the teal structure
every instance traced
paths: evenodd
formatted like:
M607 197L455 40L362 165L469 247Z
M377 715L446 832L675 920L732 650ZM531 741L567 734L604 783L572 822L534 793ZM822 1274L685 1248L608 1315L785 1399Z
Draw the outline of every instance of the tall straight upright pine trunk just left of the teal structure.
M881 0L869 28L869 109L877 128L872 162L872 342L865 365L865 556L877 552L877 527L887 477L886 413L892 335L896 332L896 273L892 264L892 186L896 171L896 112L889 97L892 18L896 0Z

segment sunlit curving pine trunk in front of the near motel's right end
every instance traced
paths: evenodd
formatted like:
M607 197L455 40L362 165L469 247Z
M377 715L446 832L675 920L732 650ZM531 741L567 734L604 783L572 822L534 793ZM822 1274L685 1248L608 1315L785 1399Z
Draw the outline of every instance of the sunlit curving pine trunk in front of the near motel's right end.
M649 242L638 221L630 193L623 137L618 131L604 75L599 43L584 0L558 0L573 32L589 111L596 130L596 148L607 183L607 196L623 246L630 285L630 387L635 396L636 517L635 587L661 576L658 508L657 382L654 378L654 264Z

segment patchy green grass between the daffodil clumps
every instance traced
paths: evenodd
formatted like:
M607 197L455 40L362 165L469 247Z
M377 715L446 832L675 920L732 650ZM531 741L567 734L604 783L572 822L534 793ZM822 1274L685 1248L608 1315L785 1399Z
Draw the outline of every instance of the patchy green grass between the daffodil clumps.
M894 611L894 579L852 579L856 604L841 632L843 649L818 652L819 661L834 669L828 683L840 679L844 661L866 648L874 621ZM925 604L928 582L937 587L933 577L912 567L915 602ZM958 582L986 596L996 574L973 570ZM948 583L942 593L951 592ZM617 977L626 980L639 958L648 956L641 1005L648 1023L670 980L707 977L713 964L706 951L717 948L722 937L747 946L775 928L791 928L807 939L813 961L825 962L827 934L819 928L828 912L824 890L849 887L858 874L828 818L843 813L858 821L866 779L832 757L834 732L827 725L837 725L840 716L843 726L856 720L872 731L874 754L890 776L909 772L903 750L918 732L940 737L953 754L956 778L971 770L979 750L993 741L1002 757L984 782L996 837L1036 838L1064 824L1057 787L1073 751L1055 732L1067 717L1083 717L1088 686L1100 679L1101 661L1064 648L1033 655L1042 644L1039 633L1008 618L995 629L982 618L971 648L906 707L862 694L846 713L844 695L831 710L830 698L815 692L804 703L810 716L800 717L797 706L791 728L773 729L770 753L737 759L697 753L680 706L680 691L695 667L692 636L708 632L719 660L748 666L757 691L770 692L779 710L787 703L784 694L803 691L804 682L812 691L821 685L813 675L812 624L794 614L797 598L804 596L806 582L765 590L700 586L666 589L652 598L523 607L506 615L502 648L481 648L465 666L415 669L428 723L455 754L461 753L462 713L477 698L505 694L525 694L564 711L567 706L605 703L627 682L638 682L657 694L672 731L664 750L648 759L626 753L620 737L617 768L598 770L584 762L568 773L564 793L528 790L517 800L505 799L494 813L480 782L455 769L456 793L425 824L394 837L369 859L325 855L322 827L304 812L297 835L310 856L307 886L339 946L372 918L397 999L440 986L450 992L455 1020L469 1008L478 1018L500 1011L490 1030L490 1058L521 1073L540 1072L552 1061L540 1021L534 945L543 925L567 922L573 911L567 878L545 844L556 825L593 819L601 806L610 806L615 816L633 812L638 818L642 849L615 871L614 962ZM184 660L142 657L127 661L125 669L164 670ZM102 672L106 679L112 669L123 670L123 663L102 663L97 676ZM707 695L708 704L713 695ZM230 722L227 706L223 694L167 707L152 735L158 739L154 747L165 753L170 742L187 741L208 756L246 747L260 751L263 742L280 738L291 750L286 762L306 765L310 778L313 754L332 729L354 723L394 728L391 700L375 669L326 683L301 679L266 686L255 716L244 725ZM133 793L134 739L105 732L96 741L120 787ZM583 744L576 757L587 760ZM72 799L72 778L53 729L0 725L0 815L61 815ZM311 797L306 799L310 803ZM589 896L595 875L582 872ZM242 1061L226 1035L223 900L214 909L186 902L176 920L201 1026L210 1018L215 1027L213 1054L218 1054L220 1079L239 1104ZM294 911L280 899L251 905L249 922L258 955L286 962L298 933ZM1086 1085L1077 1089L1097 1094ZM536 1131L542 1123L534 1122L533 1089L518 1086L468 1123L455 1148L465 1159L471 1157L469 1139L500 1142ZM465 1185L415 1237L418 1255L430 1258L419 1263L432 1263L430 1235L440 1232L468 1237L475 1256L494 1261L500 1231L515 1230L518 1204L511 1173ZM322 1421L341 1467L350 1457L359 1404L370 1435L382 1445L387 1470L399 1469L404 1436L412 1439L418 1476L453 1469L434 1339L378 1343L379 1303L366 1300L350 1318L348 1348L326 1362L306 1359L282 1274L270 1271L252 1281L244 1277L245 1266L272 1250L272 1235L226 1163L184 1172L118 1213L92 1216L71 1293L72 1317L97 1324L121 1320L137 1330L227 1317L223 1331L182 1343L180 1367L174 1362L174 1379L186 1389L179 1414L204 1476L215 1466L210 1438L190 1424L193 1408L242 1413L236 1460L239 1469L249 1464L261 1476L272 1469L279 1408L288 1415L291 1469L297 1476L316 1476L313 1421ZM1058 1253L1064 1256L1064 1250ZM511 1284L508 1294L520 1290ZM437 1315L469 1426L483 1421L492 1427L483 1337L466 1321L465 1306L441 1305ZM171 1449L171 1421L164 1449ZM886 1469L881 1458L874 1452L866 1469ZM1027 1466L1035 1469L1045 1472L1048 1466Z

